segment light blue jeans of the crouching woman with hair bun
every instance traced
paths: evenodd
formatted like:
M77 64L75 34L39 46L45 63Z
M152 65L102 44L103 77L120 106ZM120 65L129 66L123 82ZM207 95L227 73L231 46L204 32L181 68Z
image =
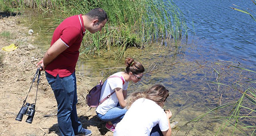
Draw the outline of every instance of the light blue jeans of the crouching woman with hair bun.
M108 112L106 112L105 115L99 114L97 113L98 117L100 118L100 120L102 121L110 121L112 124L118 123L122 120L122 118L124 118L124 114L126 113L127 109L126 108L122 108L121 106L117 106L114 107L110 110L108 110Z

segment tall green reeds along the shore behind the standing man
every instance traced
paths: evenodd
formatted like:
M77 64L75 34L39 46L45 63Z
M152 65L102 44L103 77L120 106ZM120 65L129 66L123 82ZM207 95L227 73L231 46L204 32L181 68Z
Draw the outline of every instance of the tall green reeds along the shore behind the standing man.
M146 47L153 42L175 42L187 37L186 21L182 12L171 0L0 0L13 8L35 8L55 15L56 24L64 18L85 14L92 8L103 8L108 24L102 32L86 33L81 54L114 51L116 59L126 48ZM118 51L113 48L118 47ZM176 44L178 47L178 44Z

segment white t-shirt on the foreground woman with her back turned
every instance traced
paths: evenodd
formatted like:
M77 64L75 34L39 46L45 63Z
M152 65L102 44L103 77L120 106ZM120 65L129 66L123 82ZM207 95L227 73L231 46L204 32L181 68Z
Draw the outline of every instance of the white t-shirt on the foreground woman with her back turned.
M156 124L161 131L169 129L166 113L156 102L139 98L116 125L114 136L149 136Z

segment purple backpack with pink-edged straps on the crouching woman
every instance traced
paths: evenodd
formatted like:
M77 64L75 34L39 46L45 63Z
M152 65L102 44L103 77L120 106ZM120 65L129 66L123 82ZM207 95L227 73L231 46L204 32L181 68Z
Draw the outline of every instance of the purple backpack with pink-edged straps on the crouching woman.
M123 81L123 85L124 85L124 79L123 77L121 76L110 76L108 78L114 78L114 77L118 77L118 78L121 78L122 81ZM107 79L108 79L107 78ZM106 80L107 80L106 79ZM105 100L107 100L108 98L110 98L110 96L112 94L114 94L116 91L112 92L111 94L109 94L107 97L105 97L104 99L102 99L100 101L100 92L101 92L101 88L103 86L103 82L102 80L100 80L100 83L97 84L96 86L94 86L90 91L89 93L87 94L86 96L86 105L90 106L90 107L97 107L98 105L102 104L102 102L104 102Z

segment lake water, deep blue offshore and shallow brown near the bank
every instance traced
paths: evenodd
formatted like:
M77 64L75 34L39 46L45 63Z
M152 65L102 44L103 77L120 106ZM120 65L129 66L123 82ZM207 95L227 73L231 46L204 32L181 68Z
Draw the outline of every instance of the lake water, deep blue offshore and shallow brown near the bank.
M236 4L256 11L256 6L250 0L174 2L185 14L190 30L188 41L180 43L179 48L172 44L150 45L143 50L128 48L124 58L118 62L114 61L114 49L102 52L100 58L81 56L76 74L90 77L90 85L94 86L99 80L106 79L115 72L124 71L125 58L132 57L144 65L146 72L141 82L129 84L128 93L146 90L153 84L166 86L170 90L170 96L164 108L172 111L171 121L179 122L172 134L231 135L234 127L226 125L225 119L214 118L230 115L232 106L210 112L198 122L188 122L209 109L238 101L241 96L238 89L244 91L249 87L256 88L255 73L241 69L256 71L256 22L247 14L230 8L232 4ZM41 46L43 50L48 49L51 32L54 30L52 28L49 31L48 23L52 23L52 20L36 20L31 26L35 33L38 32L38 40L35 40L34 44L44 45ZM248 114L245 109L241 110L241 113ZM251 114L256 116L255 113ZM240 121L246 125L255 124L251 118L241 118ZM235 134L244 135L237 130ZM246 130L246 134L250 134L250 131Z

